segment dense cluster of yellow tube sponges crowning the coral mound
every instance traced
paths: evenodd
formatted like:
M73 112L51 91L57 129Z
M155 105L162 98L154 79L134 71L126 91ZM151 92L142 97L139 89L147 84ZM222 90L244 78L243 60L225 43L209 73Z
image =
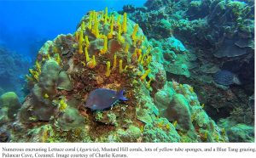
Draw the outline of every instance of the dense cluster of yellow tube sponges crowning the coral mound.
M90 69L105 65L107 77L113 71L118 70L122 74L135 66L141 71L138 73L141 74L138 75L141 81L146 81L150 73L151 47L144 42L146 37L139 31L138 25L127 19L126 13L108 14L108 8L99 12L90 11L80 22L74 37L78 42L78 54L85 57L85 61L81 60L83 65ZM96 41L98 45L95 45ZM149 81L152 82L153 78L148 79L150 84Z

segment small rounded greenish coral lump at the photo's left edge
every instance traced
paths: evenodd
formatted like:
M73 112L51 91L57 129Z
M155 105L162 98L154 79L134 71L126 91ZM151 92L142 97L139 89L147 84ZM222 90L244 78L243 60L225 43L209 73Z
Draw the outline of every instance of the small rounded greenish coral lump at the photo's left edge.
M3 109L6 109L5 112L3 112L3 115L7 115L9 119L13 120L15 119L15 115L17 114L18 110L20 110L21 104L19 101L18 96L14 92L9 93L3 93L0 97L0 108L3 111Z

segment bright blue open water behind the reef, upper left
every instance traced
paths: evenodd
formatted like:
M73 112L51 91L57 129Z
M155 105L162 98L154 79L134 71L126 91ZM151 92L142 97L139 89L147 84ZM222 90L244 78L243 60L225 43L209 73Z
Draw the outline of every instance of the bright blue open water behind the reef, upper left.
M73 33L89 10L120 10L145 0L0 0L0 45L28 56L46 40ZM33 58L33 57L32 57Z

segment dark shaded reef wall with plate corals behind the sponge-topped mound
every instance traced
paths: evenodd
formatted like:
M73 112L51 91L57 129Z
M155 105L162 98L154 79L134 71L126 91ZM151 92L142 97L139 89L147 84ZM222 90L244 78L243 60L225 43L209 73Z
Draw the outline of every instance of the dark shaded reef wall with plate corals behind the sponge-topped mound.
M142 27L159 54L167 81L195 87L207 114L228 131L230 141L251 142L254 1L148 0L143 7L123 9L120 13L127 12ZM246 126L253 132L249 138L237 135L236 139L224 121L234 128L242 124L237 127L244 133Z

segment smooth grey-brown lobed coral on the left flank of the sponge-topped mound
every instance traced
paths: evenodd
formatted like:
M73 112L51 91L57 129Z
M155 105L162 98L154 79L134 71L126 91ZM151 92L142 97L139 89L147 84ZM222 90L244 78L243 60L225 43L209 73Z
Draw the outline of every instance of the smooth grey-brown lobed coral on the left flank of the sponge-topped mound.
M55 97L58 79L60 78L60 87L66 89L72 87L67 74L62 72L59 75L60 71L61 67L55 59L49 59L44 63L39 81L32 88L32 99L26 99L25 105L20 110L20 118L24 123L49 121L54 115L56 106L52 104L51 99Z

